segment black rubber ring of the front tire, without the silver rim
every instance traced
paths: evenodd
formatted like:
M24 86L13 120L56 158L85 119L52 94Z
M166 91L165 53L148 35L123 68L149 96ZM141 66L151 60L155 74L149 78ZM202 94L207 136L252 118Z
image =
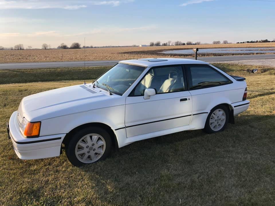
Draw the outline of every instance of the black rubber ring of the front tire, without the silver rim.
M72 163L72 165L74 166L79 167L82 165L91 164L91 163L81 162L80 160L78 160L75 154L76 144L82 137L84 137L87 134L99 134L100 136L102 136L102 138L105 140L105 143L106 143L105 151L103 152L103 155L93 163L96 163L101 160L105 160L111 152L112 140L111 140L110 134L106 130L100 127L87 127L87 128L81 129L76 133L74 133L70 141L66 144L66 156L70 161L70 163Z

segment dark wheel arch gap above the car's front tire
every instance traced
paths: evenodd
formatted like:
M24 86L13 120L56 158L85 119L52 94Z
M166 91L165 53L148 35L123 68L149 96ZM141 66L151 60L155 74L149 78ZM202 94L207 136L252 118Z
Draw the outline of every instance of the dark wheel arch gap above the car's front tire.
M68 142L70 141L72 135L74 135L77 131L79 131L83 128L91 127L91 126L100 127L100 128L105 129L110 134L110 136L112 138L113 146L115 146L115 148L118 148L117 137L115 135L115 132L113 131L113 129L109 125L101 123L101 122L86 123L86 124L82 124L82 125L79 125L79 126L73 128L72 130L70 130L70 132L68 132L66 134L66 136L64 137L64 139L62 141L62 144L65 144L65 145L68 144Z

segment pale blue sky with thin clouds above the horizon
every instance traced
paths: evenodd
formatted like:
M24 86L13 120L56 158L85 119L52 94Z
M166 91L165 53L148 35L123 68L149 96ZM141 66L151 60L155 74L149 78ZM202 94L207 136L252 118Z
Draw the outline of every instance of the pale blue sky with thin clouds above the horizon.
M0 46L275 39L275 0L0 0Z

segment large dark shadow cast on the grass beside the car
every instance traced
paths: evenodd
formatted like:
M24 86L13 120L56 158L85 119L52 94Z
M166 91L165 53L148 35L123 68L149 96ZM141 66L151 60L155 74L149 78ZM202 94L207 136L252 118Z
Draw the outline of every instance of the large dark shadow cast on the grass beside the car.
M194 205L195 199L199 199L197 205L237 204L258 190L271 194L268 178L275 179L275 173L266 166L275 155L275 140L274 126L266 122L274 120L274 116L240 116L237 124L216 134L194 130L134 142L105 161L80 169L88 180L101 185L95 190L106 205L112 204L106 194L120 203L144 205L175 204L179 198ZM254 185L258 187L251 195L248 191ZM261 199L258 195L253 201Z

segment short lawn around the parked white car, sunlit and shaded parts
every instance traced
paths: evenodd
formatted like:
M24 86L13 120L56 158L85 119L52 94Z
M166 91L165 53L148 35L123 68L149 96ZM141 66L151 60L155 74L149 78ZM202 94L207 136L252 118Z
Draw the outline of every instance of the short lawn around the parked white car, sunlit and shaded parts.
M81 168L64 152L18 159L5 122L24 96L83 81L0 85L0 205L275 205L274 69L218 66L247 79L250 108L234 125L135 142Z

